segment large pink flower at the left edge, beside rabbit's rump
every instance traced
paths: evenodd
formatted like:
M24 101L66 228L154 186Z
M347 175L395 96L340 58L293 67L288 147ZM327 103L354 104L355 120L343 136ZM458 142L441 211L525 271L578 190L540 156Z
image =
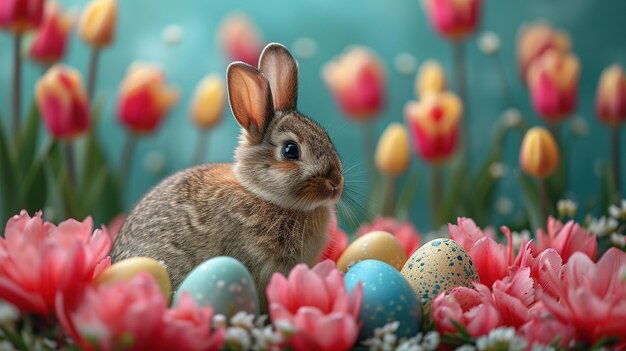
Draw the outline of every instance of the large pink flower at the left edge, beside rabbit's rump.
M58 226L22 211L0 238L0 299L23 312L48 315L60 292L91 283L111 263L111 238L93 220Z

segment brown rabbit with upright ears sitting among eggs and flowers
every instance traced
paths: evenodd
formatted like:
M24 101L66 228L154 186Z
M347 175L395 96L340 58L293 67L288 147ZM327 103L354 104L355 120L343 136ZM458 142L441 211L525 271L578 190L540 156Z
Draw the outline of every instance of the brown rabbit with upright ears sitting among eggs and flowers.
M296 111L298 66L284 46L266 46L259 69L230 64L227 80L242 127L235 163L165 179L130 213L111 256L162 261L175 289L203 261L232 256L250 270L265 310L272 273L318 260L342 166L324 129Z

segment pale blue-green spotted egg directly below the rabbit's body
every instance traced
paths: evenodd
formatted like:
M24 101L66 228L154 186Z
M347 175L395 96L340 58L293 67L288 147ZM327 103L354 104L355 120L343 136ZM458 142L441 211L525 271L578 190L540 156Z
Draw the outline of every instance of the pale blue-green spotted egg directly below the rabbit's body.
M230 318L239 311L259 313L259 299L246 266L232 257L204 261L183 279L174 295L174 305L188 293L198 306L211 306L213 313Z

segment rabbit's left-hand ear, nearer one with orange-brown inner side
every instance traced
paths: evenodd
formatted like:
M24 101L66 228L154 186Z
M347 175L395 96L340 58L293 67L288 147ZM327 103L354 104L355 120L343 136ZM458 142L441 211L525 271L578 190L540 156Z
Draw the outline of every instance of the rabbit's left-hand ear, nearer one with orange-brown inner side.
M274 116L270 83L258 69L243 62L231 63L226 77L233 115L247 131L248 140L258 144Z

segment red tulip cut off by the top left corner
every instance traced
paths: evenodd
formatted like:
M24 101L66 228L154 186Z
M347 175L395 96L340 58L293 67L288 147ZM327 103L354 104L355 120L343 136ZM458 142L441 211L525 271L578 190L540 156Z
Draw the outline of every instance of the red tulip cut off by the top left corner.
M2 0L0 28L15 34L38 27L43 19L44 0Z

